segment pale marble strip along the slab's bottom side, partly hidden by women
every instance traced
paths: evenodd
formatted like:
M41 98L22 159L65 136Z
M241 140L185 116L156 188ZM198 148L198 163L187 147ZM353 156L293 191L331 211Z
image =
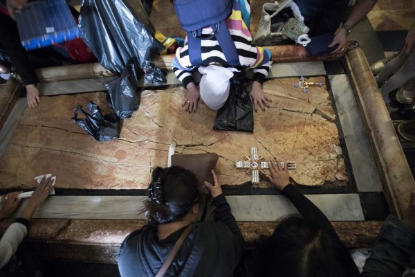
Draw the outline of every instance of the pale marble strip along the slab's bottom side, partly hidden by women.
M331 221L362 221L357 194L306 195ZM146 220L140 214L145 196L50 196L34 218ZM284 195L230 195L228 203L239 222L274 222L297 212ZM12 217L26 206L24 199Z

